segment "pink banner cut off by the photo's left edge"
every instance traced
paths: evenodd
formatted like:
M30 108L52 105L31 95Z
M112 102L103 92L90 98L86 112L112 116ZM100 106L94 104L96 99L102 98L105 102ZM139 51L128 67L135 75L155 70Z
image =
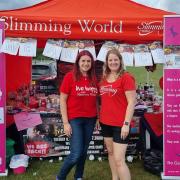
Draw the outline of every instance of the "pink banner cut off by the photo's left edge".
M0 19L0 48L4 38L4 21ZM0 173L6 169L6 126L5 126L5 105L6 105L6 83L5 83L5 57L0 53Z

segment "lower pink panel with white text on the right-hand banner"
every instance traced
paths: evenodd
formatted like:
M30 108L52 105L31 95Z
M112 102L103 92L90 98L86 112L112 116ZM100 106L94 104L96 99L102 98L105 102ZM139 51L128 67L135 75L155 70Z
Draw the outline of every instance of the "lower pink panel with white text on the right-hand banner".
M164 175L180 176L180 69L164 69Z

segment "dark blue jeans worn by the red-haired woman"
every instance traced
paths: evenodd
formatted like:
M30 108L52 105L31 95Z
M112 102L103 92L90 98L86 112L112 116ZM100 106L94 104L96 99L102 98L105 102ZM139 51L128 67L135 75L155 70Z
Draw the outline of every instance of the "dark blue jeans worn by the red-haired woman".
M80 117L70 120L72 135L70 137L70 154L65 158L58 174L59 180L66 180L66 176L76 165L74 178L82 178L89 143L92 139L96 118Z

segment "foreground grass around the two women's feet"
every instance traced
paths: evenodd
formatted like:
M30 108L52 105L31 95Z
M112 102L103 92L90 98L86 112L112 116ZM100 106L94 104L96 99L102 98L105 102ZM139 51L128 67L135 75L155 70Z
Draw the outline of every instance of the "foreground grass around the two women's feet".
M8 177L0 177L0 180L55 180L56 174L59 171L62 162L54 160L50 163L48 160L40 161L33 159L29 163L26 173L22 175L14 175L12 170L9 171ZM160 177L150 174L145 171L142 161L134 160L128 164L132 180L159 180ZM86 161L85 166L85 180L111 180L111 172L109 169L108 161L103 160L99 162ZM67 180L73 180L73 170L69 174Z

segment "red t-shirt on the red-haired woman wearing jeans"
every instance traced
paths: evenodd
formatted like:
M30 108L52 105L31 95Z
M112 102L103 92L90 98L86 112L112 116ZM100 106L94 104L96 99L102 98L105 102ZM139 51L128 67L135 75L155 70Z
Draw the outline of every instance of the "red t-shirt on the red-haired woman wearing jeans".
M69 120L97 115L96 97L98 89L90 85L87 77L81 77L79 81L75 81L73 73L67 73L61 84L60 92L68 94L67 113Z

